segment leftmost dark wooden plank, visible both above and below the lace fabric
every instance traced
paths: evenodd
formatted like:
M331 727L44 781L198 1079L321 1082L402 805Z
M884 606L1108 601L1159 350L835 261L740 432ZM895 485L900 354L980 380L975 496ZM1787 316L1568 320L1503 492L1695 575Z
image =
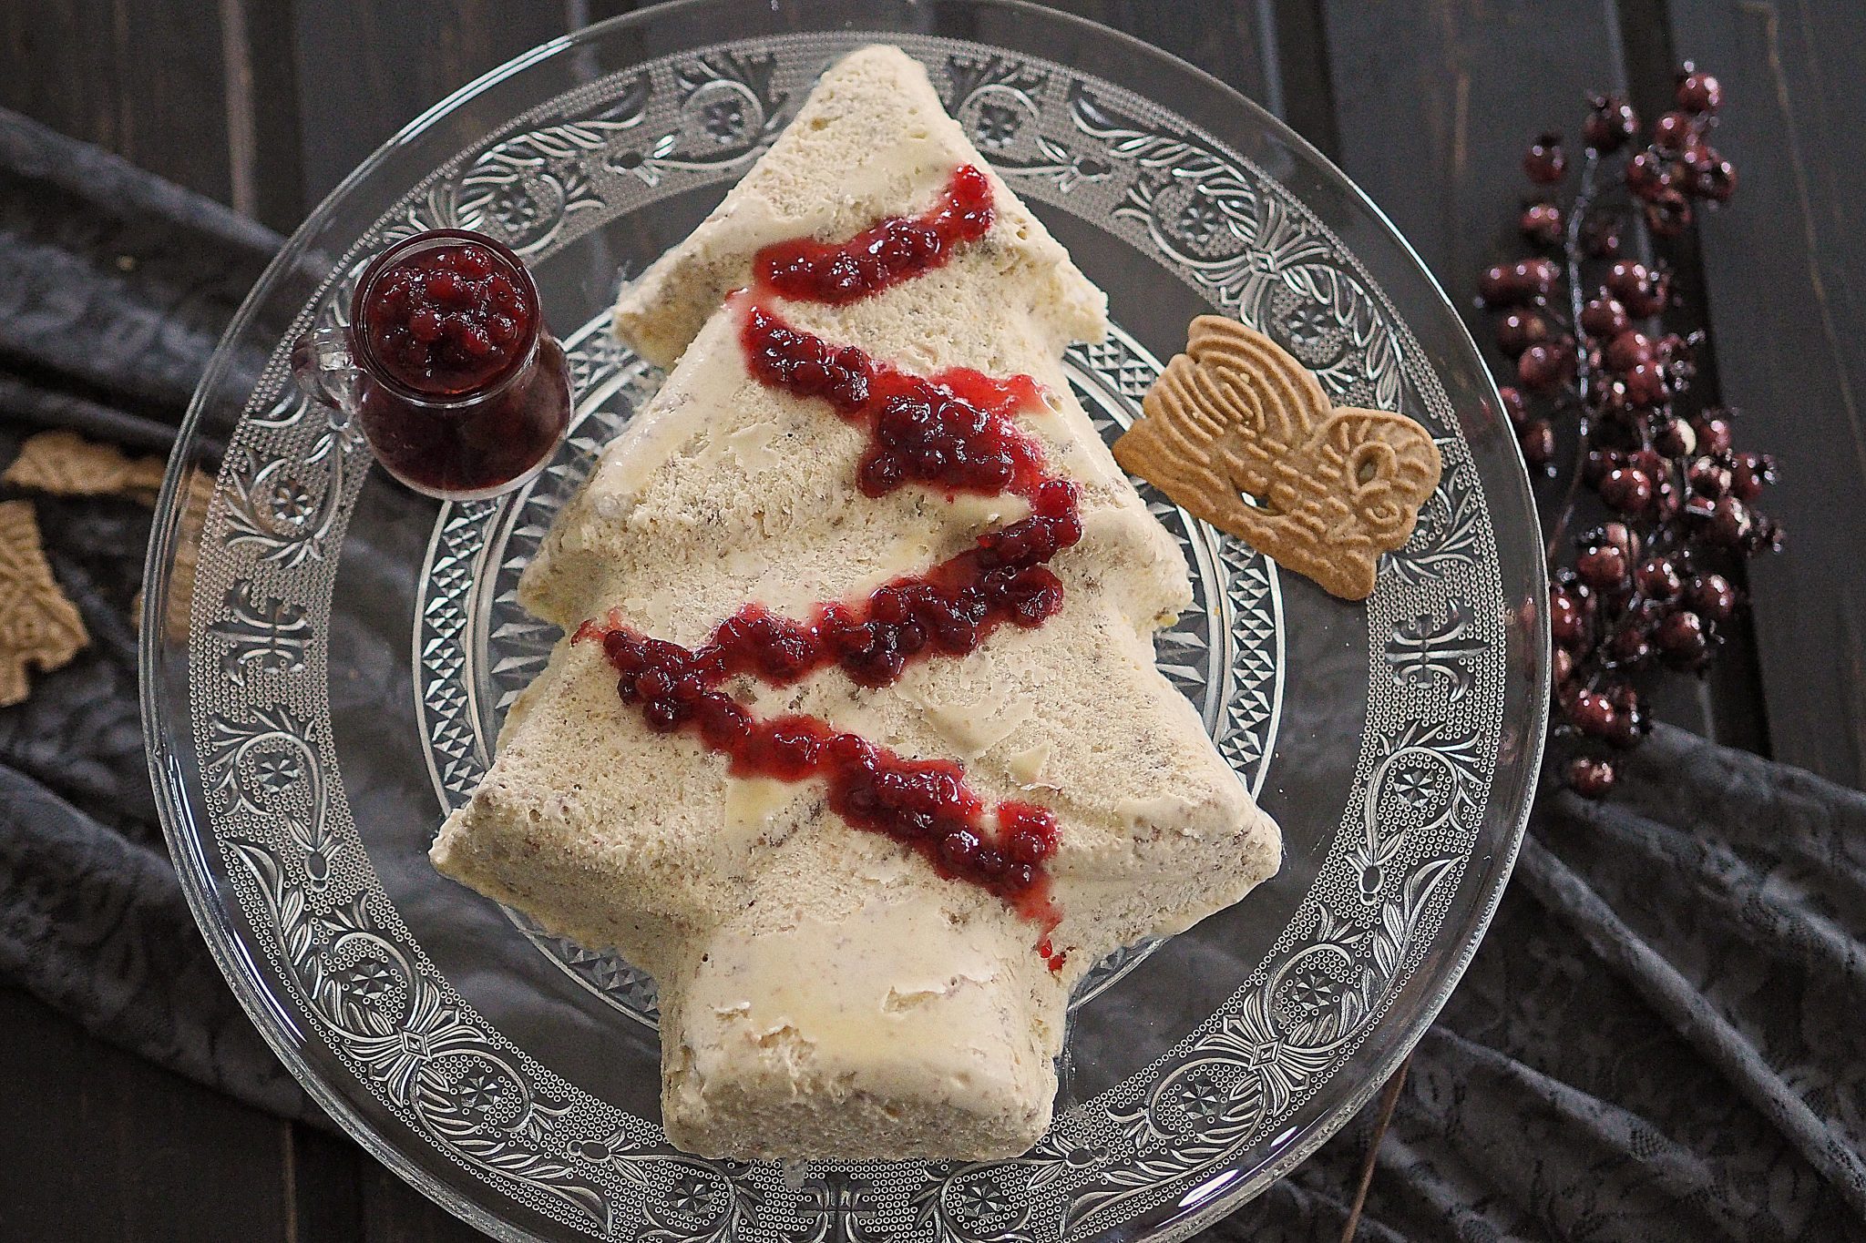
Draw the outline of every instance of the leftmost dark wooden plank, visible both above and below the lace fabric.
M243 205L220 17L211 0L0 6L0 104ZM289 1237L289 1124L95 1040L21 991L0 990L0 1032L11 1072L0 1236Z

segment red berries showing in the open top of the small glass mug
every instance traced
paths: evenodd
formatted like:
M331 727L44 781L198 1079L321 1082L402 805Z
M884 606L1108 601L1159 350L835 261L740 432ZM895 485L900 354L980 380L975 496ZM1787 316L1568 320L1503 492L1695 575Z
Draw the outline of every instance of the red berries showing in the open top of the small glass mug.
M375 362L409 388L440 397L502 375L536 319L521 281L470 242L394 263L373 278L362 309Z

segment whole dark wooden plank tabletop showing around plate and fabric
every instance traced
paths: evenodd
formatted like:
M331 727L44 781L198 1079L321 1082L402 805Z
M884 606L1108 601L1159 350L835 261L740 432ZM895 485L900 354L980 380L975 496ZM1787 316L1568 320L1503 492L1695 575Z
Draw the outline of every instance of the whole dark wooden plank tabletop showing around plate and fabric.
M754 2L754 0L748 0ZM631 0L0 0L0 104L289 233L422 108ZM1581 95L1726 84L1735 203L1676 248L1709 382L1775 451L1789 550L1754 634L1666 716L1866 773L1866 6L1860 0L1064 0L1260 101L1355 177L1454 300L1515 255L1517 160ZM730 32L720 32L730 34ZM1474 328L1478 315L1470 315ZM1483 334L1480 332L1480 339ZM0 1237L478 1237L355 1146L282 1124L0 990Z

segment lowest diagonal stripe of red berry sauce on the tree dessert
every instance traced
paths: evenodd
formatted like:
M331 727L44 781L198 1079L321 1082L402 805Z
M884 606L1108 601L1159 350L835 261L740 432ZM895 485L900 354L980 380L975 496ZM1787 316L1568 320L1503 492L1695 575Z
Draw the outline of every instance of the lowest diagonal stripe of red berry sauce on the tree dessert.
M621 701L655 732L698 734L741 777L823 777L829 805L851 826L905 842L942 876L982 885L1028 908L1034 919L1052 915L1043 870L1056 854L1056 818L1049 811L998 803L991 833L983 799L952 760L905 758L817 717L761 721L709 688L715 671L703 649L649 639L616 622L586 624L577 641L590 639L601 641Z

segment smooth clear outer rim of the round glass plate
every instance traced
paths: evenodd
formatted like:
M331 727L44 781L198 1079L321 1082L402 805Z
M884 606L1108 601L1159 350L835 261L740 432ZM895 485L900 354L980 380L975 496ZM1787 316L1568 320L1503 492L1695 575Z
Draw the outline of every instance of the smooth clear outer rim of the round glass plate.
M1413 272L1409 280L1414 283L1422 281L1422 289L1413 289L1411 298L1426 298L1433 306L1427 309L1435 319L1442 322L1437 330L1450 337L1450 347L1461 356L1448 360L1452 365L1467 367L1472 375L1463 376L1467 386L1478 389L1478 397L1483 399L1483 416L1487 423L1497 423L1500 419L1500 403L1495 395L1495 384L1491 382L1487 371L1483 371L1482 362L1476 354L1476 347L1470 343L1469 334L1459 324L1455 311L1446 300L1444 293L1437 287L1429 272L1418 261L1418 255L1405 242L1405 239L1392 227L1383 212L1373 207L1372 201L1360 194L1325 157L1310 149L1299 136L1288 130L1280 121L1271 117L1267 112L1237 95L1226 88L1217 78L1198 71L1177 58L1161 52L1138 39L1121 35L1118 32L1097 26L1084 19L1054 13L1049 9L1039 9L1036 6L1023 4L1021 0L935 0L933 4L894 4L894 6L875 6L884 7L884 13L862 11L862 17L855 20L855 28L864 32L888 34L890 20L896 24L894 34L903 34L907 15L920 20L931 20L931 13L957 13L965 9L974 11L1002 11L1015 13L1015 20L1024 26L1024 34L1019 35L1017 43L1034 43L1036 35L1032 30L1041 30L1051 26L1052 30L1073 30L1079 35L1092 35L1105 43L1112 43L1121 48L1123 54L1136 58L1140 65L1151 65L1155 71L1164 75L1177 75L1181 84L1198 86L1213 95L1211 104L1200 106L1176 106L1176 112L1191 117L1194 123L1207 127L1220 136L1235 142L1232 130L1237 127L1239 116L1248 121L1248 127L1256 127L1260 136L1271 138L1280 149L1291 153L1302 166L1304 171L1323 173L1321 181L1329 184L1330 190L1344 194L1351 203L1351 209L1364 216L1366 224L1373 225L1377 231L1385 233L1383 242L1392 246L1392 250L1407 263L1411 263ZM524 73L528 67L547 61L558 54L573 52L577 48L601 43L621 35L625 32L651 32L661 22L690 20L696 13L730 13L731 17L745 20L774 22L769 34L787 34L787 32L821 32L832 34L821 22L829 20L834 13L858 11L849 4L838 0L786 0L784 4L773 6L771 13L756 11L746 13L741 6L730 4L730 0L679 0L672 6L659 6L646 9L642 13L633 13L618 19L610 19L575 35L554 39L550 43L534 48L532 52L502 65L500 69L485 75L483 78L461 88L437 106L424 112L420 117L411 121L396 138L384 143L375 155L369 157L362 166L356 168L319 207L313 211L304 225L293 235L285 244L274 263L267 268L265 276L254 287L254 291L241 304L239 313L222 335L220 348L211 360L207 373L203 375L202 386L190 403L188 414L181 425L181 436L177 445L185 451L177 453L170 462L170 471L162 486L159 499L159 516L151 535L147 576L149 591L144 604L144 626L140 637L144 678L142 678L142 710L144 710L144 729L147 742L147 757L151 766L151 779L157 788L157 805L160 811L164 833L170 842L170 850L177 863L177 874L181 878L183 891L188 904L202 924L209 949L215 954L216 963L228 977L235 990L235 995L246 1006L248 1014L254 1018L261 1034L274 1047L285 1066L299 1077L306 1090L325 1107L340 1124L351 1131L373 1155L383 1159L390 1168L407 1178L411 1183L418 1185L431 1198L450 1208L453 1213L465 1217L472 1224L487 1230L498 1237L509 1239L530 1239L541 1237L536 1232L521 1226L513 1221L500 1219L481 1202L465 1196L459 1189L435 1178L420 1165L403 1157L396 1144L388 1142L377 1133L375 1126L356 1109L347 1098L340 1096L330 1085L323 1083L319 1073L312 1068L302 1053L304 1032L297 1027L291 1014L284 1012L278 1003L267 995L267 984L261 982L261 969L252 960L252 947L241 943L231 934L231 913L226 906L226 895L222 893L218 881L213 876L213 865L203 854L203 840L194 831L188 822L188 801L187 801L187 781L181 772L181 757L175 755L172 742L172 714L175 712L175 703L172 697L164 695L164 688L175 676L175 665L187 667L190 656L185 649L179 652L168 650L164 645L164 622L172 617L174 609L174 552L177 546L177 535L181 527L181 507L179 498L190 477L190 453L188 449L200 451L200 427L207 416L207 408L213 397L218 395L220 386L226 382L228 375L235 367L233 347L243 332L252 326L261 304L278 293L280 283L291 276L297 266L306 259L312 244L319 239L319 233L330 224L332 216L343 207L345 199L373 173L383 170L392 158L403 149L411 147L425 130L435 127L442 117L448 117L459 110L468 101L474 101L493 88L509 82L517 75ZM851 28L849 22L843 30ZM929 30L929 26L918 26L920 30ZM748 32L756 34L756 32ZM748 35L746 35L748 37ZM957 35L965 37L965 35ZM978 39L974 39L978 41ZM655 39L644 37L640 48L631 48L629 56L633 61L646 61L657 54L666 54L679 50L675 47L662 47ZM1030 52L1039 54L1039 52ZM1125 69L1121 75L1110 75L1114 80L1138 80L1148 76L1140 69ZM1166 80L1166 78L1161 78ZM1146 93L1146 88L1131 88ZM1224 117L1220 114L1232 112L1239 116ZM1340 211L1340 209L1336 209ZM1362 244L1357 253L1366 255L1368 248ZM1439 360L1444 363L1446 360ZM1528 481L1521 466L1517 466L1513 477L1487 479L1487 486L1497 488L1504 485L1502 494L1491 494L1491 501L1513 509L1519 514L1528 514L1530 526L1534 527L1534 501L1528 492ZM1532 550L1536 555L1528 557L1519 570L1528 576L1528 604L1545 593L1545 581L1541 572L1539 548ZM1517 598L1515 594L1511 598ZM1383 1032L1386 1045L1381 1057L1373 1064L1372 1072L1362 1077L1360 1088L1351 1098L1336 1103L1325 1116L1314 1120L1310 1126L1297 1133L1278 1137L1280 1155L1269 1163L1260 1165L1250 1178L1235 1178L1241 1170L1233 1170L1235 1182L1213 1180L1209 1189L1196 1189L1189 1193L1177 1206L1164 1206L1133 1217L1131 1221L1107 1232L1103 1237L1183 1237L1192 1230L1207 1224L1211 1219L1222 1215L1230 1208L1248 1195L1261 1191L1269 1182L1282 1176L1289 1167L1306 1157L1319 1146L1330 1133L1334 1133L1353 1113L1358 1109L1385 1081L1385 1077L1394 1070L1394 1066L1411 1051L1413 1044L1424 1034L1426 1027L1431 1023L1444 999L1450 995L1457 978L1463 975L1470 954L1482 937L1483 928L1489 924L1491 913L1495 911L1497 900L1500 898L1504 881L1508 880L1510 868L1513 867L1515 852L1521 844L1523 827L1526 824L1530 794L1534 790L1536 775L1539 772L1539 751L1543 727L1547 723L1549 708L1549 688L1547 688L1547 619L1536 609L1532 617L1525 622L1526 643L1523 643L1521 652L1513 652L1519 660L1526 662L1526 682L1528 691L1528 721L1523 721L1525 729L1521 736L1513 740L1513 751L1498 757L1497 775L1491 785L1491 805L1500 805L1506 822L1498 827L1504 831L1506 840L1498 842L1502 850L1493 852L1483 859L1472 859L1474 865L1482 863L1480 880L1480 900L1463 921L1459 928L1441 928L1439 939L1457 937L1457 952L1450 965L1441 969L1431 982L1429 993L1409 1003L1413 1008L1411 1021L1398 1029L1388 1029ZM179 660L177 660L179 656ZM183 673L183 686L187 684L187 675ZM1508 747L1506 747L1508 751ZM1202 1193L1202 1195L1200 1195Z

